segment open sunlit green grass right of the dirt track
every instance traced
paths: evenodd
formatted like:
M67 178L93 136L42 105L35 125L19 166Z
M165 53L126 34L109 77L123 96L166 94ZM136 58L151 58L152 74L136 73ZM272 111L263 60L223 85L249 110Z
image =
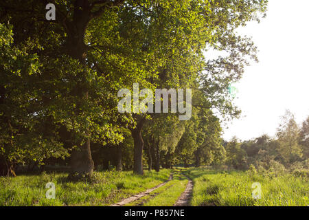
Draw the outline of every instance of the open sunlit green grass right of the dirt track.
M192 168L186 171L194 180L192 206L308 206L308 177L290 174L250 175L242 171ZM253 199L254 182L261 184L262 198Z

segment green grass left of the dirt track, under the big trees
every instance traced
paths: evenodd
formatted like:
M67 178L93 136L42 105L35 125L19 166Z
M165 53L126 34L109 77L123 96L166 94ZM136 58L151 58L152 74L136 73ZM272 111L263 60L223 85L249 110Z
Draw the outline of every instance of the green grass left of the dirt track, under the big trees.
M108 206L167 181L170 170L95 172L95 183L67 181L66 173L0 177L0 206ZM46 199L47 182L56 185L56 199Z

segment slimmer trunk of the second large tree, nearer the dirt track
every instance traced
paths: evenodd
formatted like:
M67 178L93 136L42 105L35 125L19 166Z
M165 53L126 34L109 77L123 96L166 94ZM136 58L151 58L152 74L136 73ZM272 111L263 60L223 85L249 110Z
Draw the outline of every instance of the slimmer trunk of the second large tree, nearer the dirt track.
M144 141L141 136L141 129L143 128L144 118L137 122L135 129L131 130L131 135L134 140L134 165L133 165L133 173L138 175L143 175L143 148Z

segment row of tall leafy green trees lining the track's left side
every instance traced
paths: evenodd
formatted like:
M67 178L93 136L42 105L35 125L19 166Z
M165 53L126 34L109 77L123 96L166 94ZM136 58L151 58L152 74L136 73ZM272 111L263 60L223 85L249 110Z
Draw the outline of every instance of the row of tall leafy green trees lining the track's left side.
M56 6L56 20L45 19L47 3ZM1 174L14 174L20 164L68 160L70 176L92 173L106 165L106 157L118 158L119 169L124 164L142 174L146 149L156 168L159 160L165 166L177 159L187 164L187 155L197 164L202 155L215 161L222 147L211 109L239 115L228 87L250 59L257 60L253 42L236 28L259 21L266 4L1 1ZM208 50L224 56L208 59ZM117 91L133 83L191 88L192 120L179 122L172 113L119 113Z

